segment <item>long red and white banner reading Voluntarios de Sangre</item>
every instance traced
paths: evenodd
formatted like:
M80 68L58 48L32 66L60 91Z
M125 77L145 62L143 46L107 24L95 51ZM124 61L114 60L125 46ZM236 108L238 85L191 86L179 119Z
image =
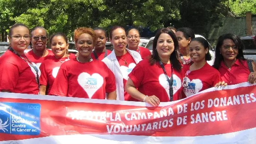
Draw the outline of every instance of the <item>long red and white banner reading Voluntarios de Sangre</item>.
M0 93L0 144L249 144L256 141L255 102L256 86L248 83L210 88L158 107Z

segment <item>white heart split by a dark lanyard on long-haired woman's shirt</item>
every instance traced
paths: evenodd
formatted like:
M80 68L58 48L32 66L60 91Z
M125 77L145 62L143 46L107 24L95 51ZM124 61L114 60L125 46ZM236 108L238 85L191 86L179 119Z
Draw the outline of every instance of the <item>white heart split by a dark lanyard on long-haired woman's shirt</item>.
M168 77L170 79L170 77ZM170 97L169 93L169 83L166 79L166 76L164 73L159 75L159 83L160 85L165 88L168 96ZM180 88L181 88L181 80L177 75L173 75L173 83L172 83L172 88L173 88L173 94L175 94Z

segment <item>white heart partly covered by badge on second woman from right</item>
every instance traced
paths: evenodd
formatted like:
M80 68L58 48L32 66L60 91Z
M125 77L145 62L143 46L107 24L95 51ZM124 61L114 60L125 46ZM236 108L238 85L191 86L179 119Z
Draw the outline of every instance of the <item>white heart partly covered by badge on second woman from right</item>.
M188 86L183 88L183 91L187 97L198 93L203 88L203 83L199 79L189 80L187 78Z

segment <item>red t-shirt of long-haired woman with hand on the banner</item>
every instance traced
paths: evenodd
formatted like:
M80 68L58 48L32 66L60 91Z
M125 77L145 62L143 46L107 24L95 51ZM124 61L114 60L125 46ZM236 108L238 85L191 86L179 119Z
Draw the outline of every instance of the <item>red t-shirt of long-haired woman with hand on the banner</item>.
M172 73L171 64L164 64L164 67L170 78ZM170 101L169 84L159 62L150 65L149 60L144 59L135 66L129 77L142 94L147 96L155 95L159 98L160 102ZM182 74L173 70L174 101L180 99L182 88Z

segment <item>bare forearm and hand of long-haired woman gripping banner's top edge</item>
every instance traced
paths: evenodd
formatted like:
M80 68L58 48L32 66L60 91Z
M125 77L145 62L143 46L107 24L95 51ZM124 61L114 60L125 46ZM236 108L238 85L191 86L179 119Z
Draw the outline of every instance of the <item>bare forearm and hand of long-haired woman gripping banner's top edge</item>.
M141 102L146 102L153 106L158 106L160 104L160 100L157 96L154 96L154 95L153 96L145 96L144 94L139 92L135 88L135 86L130 78L127 80L124 89L130 96L132 96L133 98L135 98Z

